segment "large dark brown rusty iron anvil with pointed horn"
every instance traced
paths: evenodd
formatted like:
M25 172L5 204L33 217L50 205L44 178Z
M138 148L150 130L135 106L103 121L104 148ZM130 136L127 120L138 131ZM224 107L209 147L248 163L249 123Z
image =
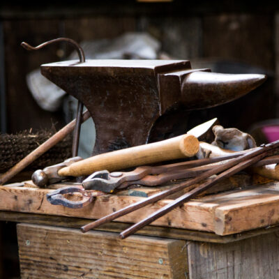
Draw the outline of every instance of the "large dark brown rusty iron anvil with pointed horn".
M190 61L174 60L63 61L40 68L47 79L89 110L96 126L94 155L110 151L111 144L146 144L158 119L167 112L227 103L266 78L211 73L192 69ZM184 121L183 117L172 121Z

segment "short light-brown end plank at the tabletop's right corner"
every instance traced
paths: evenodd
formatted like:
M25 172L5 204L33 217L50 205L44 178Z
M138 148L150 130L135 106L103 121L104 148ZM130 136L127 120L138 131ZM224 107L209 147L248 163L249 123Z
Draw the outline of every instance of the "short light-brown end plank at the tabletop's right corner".
M279 223L278 183L236 191L215 210L216 234L234 234ZM218 199L218 197L217 197ZM264 226L263 226L264 224Z

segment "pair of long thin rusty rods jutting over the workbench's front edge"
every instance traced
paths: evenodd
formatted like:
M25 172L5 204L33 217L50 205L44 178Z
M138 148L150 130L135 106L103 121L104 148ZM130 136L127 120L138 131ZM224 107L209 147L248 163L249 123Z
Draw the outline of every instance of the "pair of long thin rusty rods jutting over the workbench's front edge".
M254 165L255 163L259 162L259 160L262 160L262 158L266 156L273 155L274 149L278 148L279 146L279 140L276 142L272 142L271 144L266 144L266 146L260 146L256 149L252 149L252 151L248 151L244 153L242 156L239 156L238 158L234 158L232 160L229 160L227 163L224 163L222 165L216 165L216 167L213 167L213 169L209 169L208 171L202 173L200 176L195 177L194 179L190 179L186 182L182 182L177 184L176 186L164 190L158 194L152 195L151 197L148 197L144 200L141 200L139 202L136 202L135 204L131 204L130 206L126 206L124 209L120 209L119 211L116 211L109 216L105 216L103 218L100 218L99 220L96 220L93 223L90 223L88 225L85 225L81 227L82 232L88 232L89 229L96 228L100 225L103 225L105 223L108 223L116 218L119 218L121 216L124 216L132 211L135 211L137 209L142 208L143 206L146 206L147 204L151 204L153 202L157 202L159 199L163 199L164 197L167 197L168 195L172 195L173 193L177 193L180 190L183 190L185 188L188 188L190 186L193 186L193 184L199 183L203 181L204 179L208 179L210 176L214 174L218 174L216 178L210 179L206 183L203 183L202 185L198 186L197 188L194 188L193 190L190 190L190 192L186 193L185 195L182 195L178 199L175 199L173 202L167 204L167 206L164 206L159 211L156 211L155 213L151 214L148 218L142 220L140 223L137 223L133 225L132 227L126 229L125 231L121 232L120 237L121 239L126 238L130 234L133 234L137 232L138 229L144 227L145 225L149 225L157 218L165 215L167 212L174 209L176 206L181 205L184 202L187 202L189 199L193 199L200 193L204 192L204 190L209 189L213 185L215 185L218 181L221 181L228 176L232 176L233 174L236 174L236 172L240 172L241 170L245 169L246 167L250 167L251 165ZM275 162L275 160L266 160L267 162Z

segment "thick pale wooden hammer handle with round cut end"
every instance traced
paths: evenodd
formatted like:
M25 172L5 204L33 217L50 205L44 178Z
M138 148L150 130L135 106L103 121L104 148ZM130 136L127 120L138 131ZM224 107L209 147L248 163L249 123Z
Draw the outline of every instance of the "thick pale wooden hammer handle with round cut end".
M199 151L199 141L193 135L181 135L161 142L121 149L86 158L59 170L60 176L89 175L98 170L109 172L157 163L165 160L193 157Z

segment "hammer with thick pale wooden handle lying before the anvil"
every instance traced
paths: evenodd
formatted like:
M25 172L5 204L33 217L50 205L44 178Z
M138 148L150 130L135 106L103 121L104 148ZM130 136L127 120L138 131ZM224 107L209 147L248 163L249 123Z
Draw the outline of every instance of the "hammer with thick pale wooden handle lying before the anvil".
M202 138L210 133L211 128L217 122L217 119L211 119L189 130L185 135L160 142L103 153L84 160L77 157L71 158L63 163L45 167L43 170L38 169L33 173L32 181L37 186L44 187L47 184L66 179L67 176L90 175L103 169L111 172L165 160L193 157L199 151L197 138Z

